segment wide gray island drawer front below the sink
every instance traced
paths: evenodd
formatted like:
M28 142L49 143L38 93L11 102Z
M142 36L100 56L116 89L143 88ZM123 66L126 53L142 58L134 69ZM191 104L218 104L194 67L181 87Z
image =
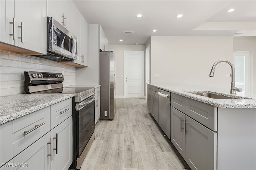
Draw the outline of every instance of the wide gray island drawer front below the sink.
M217 131L217 107L186 98L186 115Z

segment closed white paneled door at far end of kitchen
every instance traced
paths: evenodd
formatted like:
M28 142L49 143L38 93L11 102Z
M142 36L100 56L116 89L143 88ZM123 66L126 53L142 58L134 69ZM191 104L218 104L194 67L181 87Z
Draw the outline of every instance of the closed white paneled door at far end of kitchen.
M124 96L142 98L144 92L144 51L124 51Z

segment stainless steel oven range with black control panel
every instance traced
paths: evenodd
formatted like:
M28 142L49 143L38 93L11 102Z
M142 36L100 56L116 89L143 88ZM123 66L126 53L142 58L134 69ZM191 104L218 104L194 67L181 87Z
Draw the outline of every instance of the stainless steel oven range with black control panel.
M25 93L72 93L73 97L73 163L69 169L80 169L95 138L94 88L63 87L62 73L25 71Z

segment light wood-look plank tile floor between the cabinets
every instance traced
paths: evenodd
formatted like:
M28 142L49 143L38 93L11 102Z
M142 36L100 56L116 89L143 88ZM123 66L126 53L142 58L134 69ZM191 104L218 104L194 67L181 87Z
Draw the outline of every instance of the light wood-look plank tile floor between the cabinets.
M81 170L190 170L148 113L146 99L116 99L112 121L98 121Z

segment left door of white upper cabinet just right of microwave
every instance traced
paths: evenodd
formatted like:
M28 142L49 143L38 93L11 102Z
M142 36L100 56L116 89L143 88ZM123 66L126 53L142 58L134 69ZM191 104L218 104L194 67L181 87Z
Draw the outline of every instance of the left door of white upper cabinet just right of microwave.
M82 15L79 10L74 6L74 36L77 38L77 59L74 60L74 63L82 64Z

